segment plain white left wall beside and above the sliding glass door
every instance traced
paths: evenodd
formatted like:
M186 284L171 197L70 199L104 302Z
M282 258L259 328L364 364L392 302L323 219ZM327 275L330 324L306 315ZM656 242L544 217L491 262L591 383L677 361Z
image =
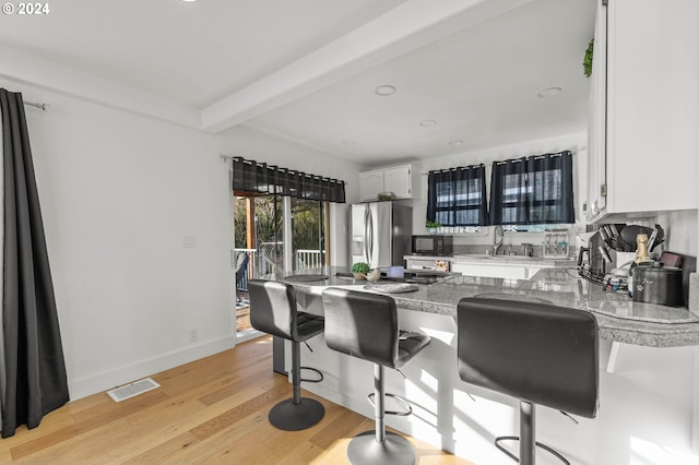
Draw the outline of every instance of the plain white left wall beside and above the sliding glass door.
M14 82L0 86L51 105L26 112L73 400L235 344L221 153L340 179L358 171L251 130L209 134ZM183 247L185 236L196 248Z

